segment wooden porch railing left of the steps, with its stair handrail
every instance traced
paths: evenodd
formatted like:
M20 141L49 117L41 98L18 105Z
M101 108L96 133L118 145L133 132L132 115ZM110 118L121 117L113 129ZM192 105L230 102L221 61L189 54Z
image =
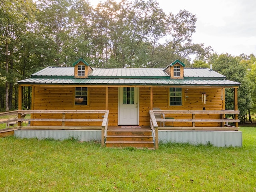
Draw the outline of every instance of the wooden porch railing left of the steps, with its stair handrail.
M7 120L7 123L16 120L18 129L65 129L65 130L101 130L101 145L105 145L108 129L109 110L16 110L12 114L18 114L18 118ZM21 118L22 114L62 114L62 118ZM72 118L67 119L66 114L103 114L101 118ZM8 115L8 114L6 114ZM62 126L21 126L23 121L28 122L62 122ZM101 126L65 126L65 122L102 122Z

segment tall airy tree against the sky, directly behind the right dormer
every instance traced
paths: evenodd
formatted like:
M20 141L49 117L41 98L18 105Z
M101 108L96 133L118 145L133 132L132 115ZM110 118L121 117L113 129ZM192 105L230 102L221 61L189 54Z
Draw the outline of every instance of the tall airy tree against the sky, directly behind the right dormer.
M170 62L179 59L186 66L190 66L190 56L195 55L198 60L206 61L212 52L210 46L193 44L192 34L196 29L196 16L186 10L180 10L176 15L170 13L165 18L164 44L158 44L155 49L154 66L165 67Z

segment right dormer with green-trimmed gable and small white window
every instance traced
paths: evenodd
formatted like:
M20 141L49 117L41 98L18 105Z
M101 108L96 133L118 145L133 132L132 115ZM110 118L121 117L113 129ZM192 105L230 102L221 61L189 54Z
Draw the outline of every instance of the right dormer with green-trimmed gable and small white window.
M171 79L183 79L184 78L184 66L180 60L175 60L168 67L164 69Z

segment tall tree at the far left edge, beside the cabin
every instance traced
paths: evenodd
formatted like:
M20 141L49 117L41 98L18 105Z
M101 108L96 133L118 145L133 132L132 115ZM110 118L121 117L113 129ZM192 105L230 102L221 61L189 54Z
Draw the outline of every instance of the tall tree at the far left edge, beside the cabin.
M5 85L5 110L9 111L9 104L12 97L9 97L9 84L12 82L10 70L13 69L16 47L20 43L20 36L28 30L28 24L33 18L34 3L32 0L6 0L0 1L0 50L5 64L5 74L7 81ZM12 92L12 86L10 87ZM12 93L10 94L12 96Z

